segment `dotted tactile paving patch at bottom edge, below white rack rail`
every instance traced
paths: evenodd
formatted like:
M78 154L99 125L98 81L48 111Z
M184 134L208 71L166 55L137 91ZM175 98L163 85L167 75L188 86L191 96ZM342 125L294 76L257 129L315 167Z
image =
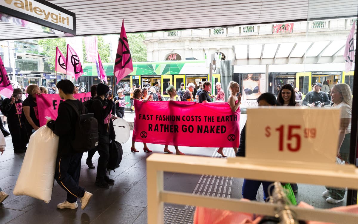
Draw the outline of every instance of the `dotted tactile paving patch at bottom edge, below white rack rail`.
M192 224L195 210L164 207L164 224Z

